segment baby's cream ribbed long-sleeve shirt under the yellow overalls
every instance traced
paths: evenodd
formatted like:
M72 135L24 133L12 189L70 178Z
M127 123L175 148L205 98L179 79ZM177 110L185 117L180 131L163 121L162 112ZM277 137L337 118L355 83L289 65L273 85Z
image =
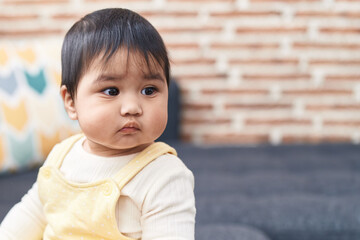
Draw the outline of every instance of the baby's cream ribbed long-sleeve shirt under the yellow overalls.
M74 144L60 168L65 179L72 182L109 178L136 156L96 156L83 149L83 141ZM119 231L143 240L194 239L193 189L193 174L178 157L168 154L157 158L121 190L115 213ZM154 209L157 214L153 214ZM41 240L46 224L35 183L5 217L0 239Z

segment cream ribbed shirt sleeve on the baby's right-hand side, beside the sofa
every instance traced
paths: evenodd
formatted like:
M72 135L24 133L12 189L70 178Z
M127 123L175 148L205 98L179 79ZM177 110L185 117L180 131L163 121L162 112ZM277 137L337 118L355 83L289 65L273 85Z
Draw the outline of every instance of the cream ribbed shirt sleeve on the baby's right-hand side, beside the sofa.
M166 159L155 174L142 208L142 240L193 240L196 209L192 172L181 161L174 164Z

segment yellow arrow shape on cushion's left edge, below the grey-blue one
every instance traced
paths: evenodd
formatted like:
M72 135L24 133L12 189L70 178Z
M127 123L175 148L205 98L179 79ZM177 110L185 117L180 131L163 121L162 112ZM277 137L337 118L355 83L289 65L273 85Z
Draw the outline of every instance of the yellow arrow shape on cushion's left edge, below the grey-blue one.
M11 107L6 102L1 103L5 121L19 132L22 131L28 122L25 101L22 100L17 106Z

